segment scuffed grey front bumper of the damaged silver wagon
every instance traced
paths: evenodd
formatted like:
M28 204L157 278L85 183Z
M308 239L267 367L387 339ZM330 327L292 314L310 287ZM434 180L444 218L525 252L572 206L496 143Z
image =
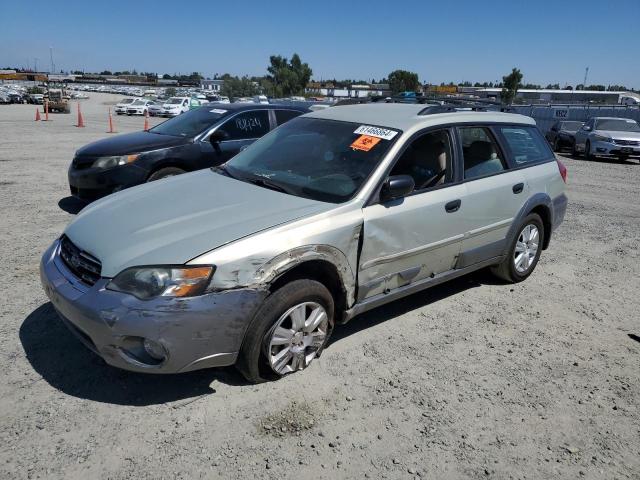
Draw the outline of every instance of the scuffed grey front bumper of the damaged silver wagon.
M266 297L256 289L191 298L139 300L89 286L66 268L59 241L44 253L40 280L65 325L109 365L148 373L179 373L235 363L246 328ZM145 354L141 339L162 345L166 357Z

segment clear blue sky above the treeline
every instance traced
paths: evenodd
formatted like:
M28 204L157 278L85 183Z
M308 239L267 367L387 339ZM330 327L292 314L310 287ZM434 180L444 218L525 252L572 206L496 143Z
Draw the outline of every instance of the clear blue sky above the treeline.
M360 2L2 0L0 67L266 73L297 52L314 78L640 88L640 0Z

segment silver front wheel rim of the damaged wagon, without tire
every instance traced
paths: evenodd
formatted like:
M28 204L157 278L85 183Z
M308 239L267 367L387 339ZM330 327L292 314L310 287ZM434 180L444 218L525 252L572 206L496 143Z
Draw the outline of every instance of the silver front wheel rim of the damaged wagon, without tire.
M273 371L285 375L308 367L324 344L328 326L327 312L316 302L300 303L283 313L268 340Z

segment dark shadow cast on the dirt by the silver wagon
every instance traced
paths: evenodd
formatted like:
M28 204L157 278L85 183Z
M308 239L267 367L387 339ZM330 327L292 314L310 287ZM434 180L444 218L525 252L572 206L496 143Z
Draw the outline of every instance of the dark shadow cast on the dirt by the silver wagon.
M469 288L500 283L480 271L355 317L334 331L331 344ZM52 387L78 398L116 405L147 406L188 402L215 394L215 383L240 386L246 380L233 367L198 370L176 375L128 372L107 365L67 330L53 305L47 302L24 320L20 341L34 370Z

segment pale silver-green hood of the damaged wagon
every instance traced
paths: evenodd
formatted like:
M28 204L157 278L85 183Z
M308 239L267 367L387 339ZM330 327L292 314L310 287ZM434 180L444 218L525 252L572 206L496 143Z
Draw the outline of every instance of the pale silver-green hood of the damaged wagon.
M184 264L227 243L334 208L201 170L109 195L65 230L113 277L137 265Z

